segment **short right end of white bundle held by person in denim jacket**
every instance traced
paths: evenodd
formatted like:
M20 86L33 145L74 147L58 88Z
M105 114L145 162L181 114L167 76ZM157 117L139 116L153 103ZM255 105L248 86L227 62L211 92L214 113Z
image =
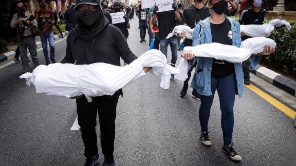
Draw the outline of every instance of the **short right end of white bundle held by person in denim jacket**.
M252 55L262 53L264 51L264 46L271 46L275 48L276 43L271 38L266 37L252 37L244 40L241 44L241 48L250 49Z

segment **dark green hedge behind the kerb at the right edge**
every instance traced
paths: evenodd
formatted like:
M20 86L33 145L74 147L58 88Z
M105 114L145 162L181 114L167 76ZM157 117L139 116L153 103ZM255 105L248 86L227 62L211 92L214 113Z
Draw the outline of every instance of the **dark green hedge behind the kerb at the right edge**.
M269 38L276 43L275 52L265 59L269 63L285 64L282 68L284 72L291 70L296 72L296 21L288 20L292 28L290 31L286 27L275 29Z

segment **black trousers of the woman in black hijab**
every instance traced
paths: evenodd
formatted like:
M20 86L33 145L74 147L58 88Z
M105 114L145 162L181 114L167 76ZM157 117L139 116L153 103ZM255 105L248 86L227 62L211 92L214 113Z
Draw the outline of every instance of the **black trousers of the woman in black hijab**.
M114 95L92 97L92 102L87 102L85 96L76 100L78 124L84 143L84 156L94 157L98 154L97 146L97 114L101 129L102 153L113 156L115 139L115 118L119 92Z

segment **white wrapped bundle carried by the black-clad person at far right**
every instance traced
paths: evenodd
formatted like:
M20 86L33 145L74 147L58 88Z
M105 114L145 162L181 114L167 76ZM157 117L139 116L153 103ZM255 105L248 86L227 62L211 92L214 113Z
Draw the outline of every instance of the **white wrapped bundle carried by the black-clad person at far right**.
M250 37L268 37L275 27L285 25L288 30L291 29L290 23L286 20L272 19L269 23L263 25L241 25L241 32Z

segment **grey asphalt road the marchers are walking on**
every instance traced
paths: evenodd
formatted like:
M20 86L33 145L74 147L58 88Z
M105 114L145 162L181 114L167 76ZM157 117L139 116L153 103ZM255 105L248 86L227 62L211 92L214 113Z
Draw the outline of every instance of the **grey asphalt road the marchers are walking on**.
M137 22L136 18L131 23L128 44L140 56L149 47L147 42L139 43ZM56 44L57 61L65 51L64 39ZM38 55L45 64L43 52ZM0 70L0 165L83 165L80 131L70 131L77 117L75 100L35 93L34 87L18 78L22 73L19 64ZM212 146L208 148L199 141L200 101L189 95L179 97L181 81L172 80L168 90L159 88L159 82L147 74L123 88L114 153L119 165L296 165L292 119L249 89L235 101L233 142L243 160L233 162L221 152L217 94L209 122ZM98 126L98 138L99 131ZM102 155L100 141L98 146Z

